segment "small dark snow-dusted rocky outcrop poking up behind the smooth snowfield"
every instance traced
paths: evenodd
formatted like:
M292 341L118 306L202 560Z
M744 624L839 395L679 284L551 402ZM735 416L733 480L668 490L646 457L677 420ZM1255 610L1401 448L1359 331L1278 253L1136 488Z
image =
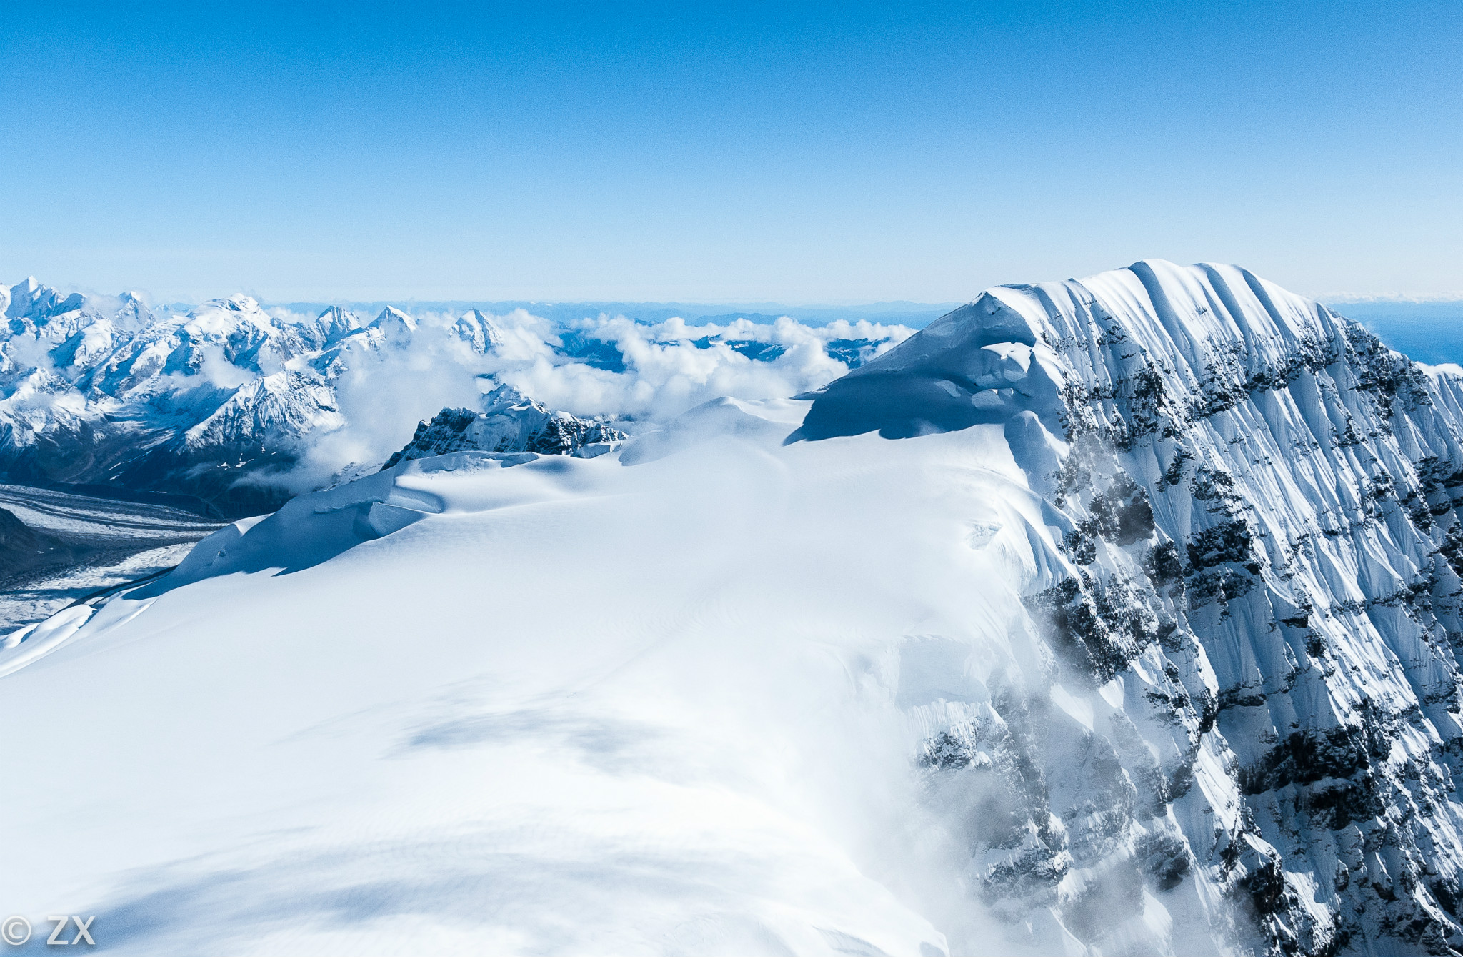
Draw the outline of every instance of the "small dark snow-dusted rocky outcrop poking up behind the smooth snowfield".
M421 421L411 442L382 468L464 449L593 458L612 451L626 438L604 421L550 410L518 389L502 385L483 397L481 413L443 408L430 420Z

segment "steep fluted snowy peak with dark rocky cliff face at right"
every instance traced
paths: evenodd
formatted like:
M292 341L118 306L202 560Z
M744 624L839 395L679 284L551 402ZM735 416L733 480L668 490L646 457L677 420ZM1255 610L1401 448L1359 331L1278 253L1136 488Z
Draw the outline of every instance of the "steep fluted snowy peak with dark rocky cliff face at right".
M1463 950L1463 379L1230 266L999 287L794 438L999 424L1049 664L922 764L1037 945ZM1451 950L1450 950L1451 948Z

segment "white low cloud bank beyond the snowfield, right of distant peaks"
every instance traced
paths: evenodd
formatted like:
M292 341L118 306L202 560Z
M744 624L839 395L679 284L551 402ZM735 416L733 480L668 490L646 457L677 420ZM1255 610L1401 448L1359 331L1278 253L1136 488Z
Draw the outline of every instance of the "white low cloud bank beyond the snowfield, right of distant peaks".
M300 464L284 476L291 490L385 461L420 420L445 407L478 408L480 395L499 383L550 408L613 419L633 432L724 395L768 399L815 389L913 335L906 326L806 326L786 318L689 325L600 316L563 326L519 309L483 319L496 338L486 351L452 313L415 315L415 329L377 344L347 341L332 380L345 424L301 436Z

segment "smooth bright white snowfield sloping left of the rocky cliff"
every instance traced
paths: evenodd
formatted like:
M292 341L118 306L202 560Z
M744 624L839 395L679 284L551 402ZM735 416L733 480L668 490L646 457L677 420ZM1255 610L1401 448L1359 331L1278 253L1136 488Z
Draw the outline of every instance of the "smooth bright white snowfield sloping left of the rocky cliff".
M998 430L783 446L805 407L411 462L370 495L439 514L113 601L6 680L0 900L139 954L944 953L910 755L1023 666L1039 506Z

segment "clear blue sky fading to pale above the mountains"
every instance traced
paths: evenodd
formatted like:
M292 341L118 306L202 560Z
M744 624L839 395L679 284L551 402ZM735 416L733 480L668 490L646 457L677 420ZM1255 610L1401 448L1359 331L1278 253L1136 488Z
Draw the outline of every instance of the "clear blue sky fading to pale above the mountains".
M1457 3L214 6L7 4L0 278L947 301L1159 256L1463 290Z

